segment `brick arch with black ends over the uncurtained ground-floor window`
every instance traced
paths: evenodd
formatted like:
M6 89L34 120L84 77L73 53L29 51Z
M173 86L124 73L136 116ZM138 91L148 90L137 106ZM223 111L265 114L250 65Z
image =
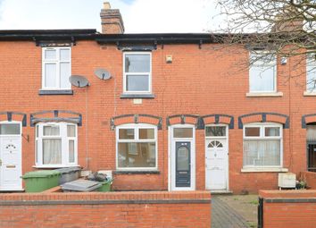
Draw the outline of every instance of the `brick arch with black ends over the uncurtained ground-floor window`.
M157 126L158 130L162 130L162 117L152 114L122 114L111 118L111 128L126 123L148 123Z

